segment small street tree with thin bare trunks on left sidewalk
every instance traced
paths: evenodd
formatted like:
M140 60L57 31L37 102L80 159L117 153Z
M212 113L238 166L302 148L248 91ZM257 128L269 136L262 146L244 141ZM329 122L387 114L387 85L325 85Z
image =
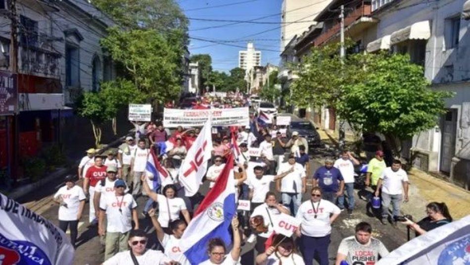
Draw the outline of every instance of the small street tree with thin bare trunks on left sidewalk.
M78 104L80 116L90 119L92 123L95 146L99 148L102 135L102 125L106 121L114 120L119 109L127 107L129 103L143 103L143 95L133 84L125 79L117 79L101 83L99 92L85 92ZM113 122L116 134L115 122Z

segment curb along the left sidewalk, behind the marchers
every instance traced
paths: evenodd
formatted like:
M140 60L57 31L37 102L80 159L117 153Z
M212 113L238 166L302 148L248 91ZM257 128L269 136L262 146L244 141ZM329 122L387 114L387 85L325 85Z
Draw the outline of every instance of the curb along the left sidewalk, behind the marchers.
M111 143L107 144L105 148L103 148L99 151L99 155L102 155L108 149L110 149L113 146L115 146L116 144L122 142L129 135L131 135L131 132L124 135L124 136L122 136L122 137L119 137L116 140L112 141ZM72 170L74 167L78 166L78 164L80 163L80 160L81 159L76 160L71 167L62 167L62 168L57 169L55 172L52 172L49 176L47 176L45 178L42 178L41 180L39 180L37 182L30 183L30 184L23 185L23 186L15 188L13 191L11 191L8 194L8 197L13 199L13 200L17 200L18 198L25 196L26 194L32 192L33 190L36 190L38 188L41 188L42 186L45 186L50 181L52 181L56 178L65 176L67 174L67 172L69 172L69 170Z

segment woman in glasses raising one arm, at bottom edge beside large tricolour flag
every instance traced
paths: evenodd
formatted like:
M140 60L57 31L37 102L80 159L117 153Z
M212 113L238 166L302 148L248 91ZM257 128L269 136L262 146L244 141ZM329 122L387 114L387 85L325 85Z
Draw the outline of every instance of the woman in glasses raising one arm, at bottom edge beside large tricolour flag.
M236 265L240 259L241 251L241 238L240 232L238 231L238 218L236 215L232 220L232 231L234 234L234 248L228 255L227 247L224 241L220 238L213 238L209 240L209 246L207 247L207 254L209 255L209 260L200 263L199 265Z

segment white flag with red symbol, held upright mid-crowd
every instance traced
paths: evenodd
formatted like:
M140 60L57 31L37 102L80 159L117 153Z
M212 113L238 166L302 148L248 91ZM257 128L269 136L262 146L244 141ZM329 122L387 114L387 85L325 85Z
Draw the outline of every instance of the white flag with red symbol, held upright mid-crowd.
M185 187L185 194L188 197L193 196L199 190L199 184L207 171L207 161L211 159L211 127L211 119L208 119L180 167L180 183Z

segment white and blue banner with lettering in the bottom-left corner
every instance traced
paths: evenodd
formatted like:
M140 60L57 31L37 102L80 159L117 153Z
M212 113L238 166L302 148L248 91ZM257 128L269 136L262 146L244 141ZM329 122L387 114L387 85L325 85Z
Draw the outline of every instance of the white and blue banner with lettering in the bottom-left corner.
M59 227L1 193L0 220L0 264L73 264L74 248Z

